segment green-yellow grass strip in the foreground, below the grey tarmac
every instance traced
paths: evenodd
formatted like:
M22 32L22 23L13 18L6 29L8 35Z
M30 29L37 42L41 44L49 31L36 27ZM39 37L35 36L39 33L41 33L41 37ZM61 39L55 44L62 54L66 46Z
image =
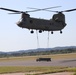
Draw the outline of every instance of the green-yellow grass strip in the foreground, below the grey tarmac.
M24 66L6 66L0 67L0 74L19 73L19 72L39 72L41 74L57 72L76 72L76 68L69 67L24 67ZM38 73L38 74L39 74Z

